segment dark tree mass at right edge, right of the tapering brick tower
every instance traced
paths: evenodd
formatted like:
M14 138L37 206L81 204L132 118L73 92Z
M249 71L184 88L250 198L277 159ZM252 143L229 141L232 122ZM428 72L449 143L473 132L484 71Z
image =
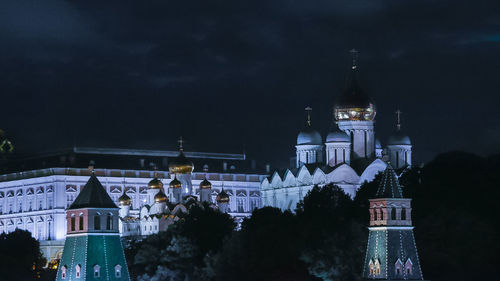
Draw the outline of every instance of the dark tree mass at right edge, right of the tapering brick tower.
M498 280L500 157L438 156L405 174L425 278Z

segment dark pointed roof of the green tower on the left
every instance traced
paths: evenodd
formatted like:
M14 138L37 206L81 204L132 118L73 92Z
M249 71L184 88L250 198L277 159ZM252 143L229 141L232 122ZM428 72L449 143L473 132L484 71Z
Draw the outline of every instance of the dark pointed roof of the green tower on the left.
M68 209L81 208L118 208L94 172L92 172L90 179Z

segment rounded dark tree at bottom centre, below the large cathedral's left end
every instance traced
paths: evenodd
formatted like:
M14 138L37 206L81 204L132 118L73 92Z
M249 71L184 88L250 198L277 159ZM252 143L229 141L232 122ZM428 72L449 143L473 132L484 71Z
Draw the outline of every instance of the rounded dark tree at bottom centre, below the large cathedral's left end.
M291 212L264 207L245 219L224 245L215 280L311 280L300 260L300 226Z

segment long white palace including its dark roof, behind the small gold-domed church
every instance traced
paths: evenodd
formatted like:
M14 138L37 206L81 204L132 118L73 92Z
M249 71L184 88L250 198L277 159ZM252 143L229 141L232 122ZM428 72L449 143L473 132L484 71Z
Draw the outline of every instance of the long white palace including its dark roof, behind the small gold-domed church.
M194 198L203 196L203 200L216 202L224 187L230 197L228 213L237 221L261 207L259 186L267 174L259 170L255 162L247 160L245 154L183 153L194 164L190 175ZM157 181L168 186L175 178L169 166L178 155L175 150L74 147L41 155L15 156L9 165L0 167L0 233L12 232L16 228L28 230L40 241L48 260L58 259L67 232L65 210L80 194L91 175L88 170L90 161L97 164L95 175L113 202L122 206L126 201L126 207L123 206L120 212L128 212L130 218L138 218L144 205L154 205L151 202L155 200L158 190L150 191L151 180L156 177ZM205 180L210 181L210 189L202 188L204 185L201 183ZM165 189L164 192L173 198L171 190ZM130 200L120 203L119 198L124 194ZM169 211L177 212L171 207ZM126 226L121 225L120 231L125 230L122 234L137 234L137 230L131 228L128 231ZM150 226L152 232L153 224ZM148 228L146 232L149 231Z

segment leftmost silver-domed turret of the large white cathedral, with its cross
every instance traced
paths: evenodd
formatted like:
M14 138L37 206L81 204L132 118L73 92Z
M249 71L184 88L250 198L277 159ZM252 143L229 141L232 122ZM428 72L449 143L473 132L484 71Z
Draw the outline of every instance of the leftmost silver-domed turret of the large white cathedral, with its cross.
M312 108L306 107L306 126L297 136L297 168L304 164L323 162L323 140L318 131L311 127Z

